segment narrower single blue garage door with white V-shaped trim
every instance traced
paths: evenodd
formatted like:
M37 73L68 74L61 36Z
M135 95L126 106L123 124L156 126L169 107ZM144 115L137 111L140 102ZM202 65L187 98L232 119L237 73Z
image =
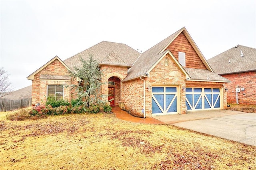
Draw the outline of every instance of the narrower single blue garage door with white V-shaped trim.
M177 87L152 87L152 114L177 113Z

